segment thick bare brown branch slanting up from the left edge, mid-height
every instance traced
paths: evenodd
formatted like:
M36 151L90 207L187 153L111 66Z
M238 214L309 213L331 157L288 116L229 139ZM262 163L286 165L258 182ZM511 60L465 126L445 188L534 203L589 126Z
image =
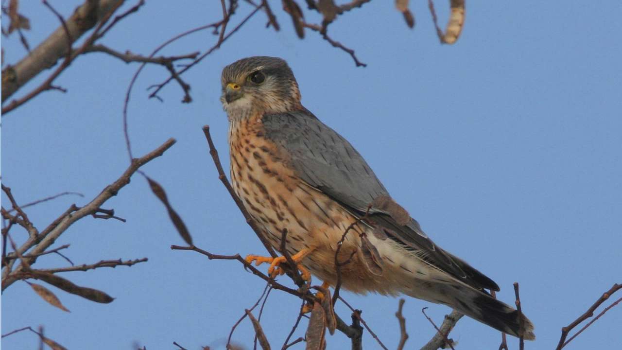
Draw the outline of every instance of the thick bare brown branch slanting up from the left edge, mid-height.
M78 209L75 205L67 209L62 215L60 215L60 217L54 220L52 224L42 231L41 234L37 235L37 237L29 237L29 239L22 244L16 253L22 254L32 248L29 252L32 257L26 258L28 263L32 265L32 263L37 260L37 254L45 252L45 250L47 250L47 248L49 248L50 245L52 245L55 240L57 240L58 237L60 237L60 235L62 235L63 232L65 232L65 230L67 230L75 222L87 215L92 215L97 212L101 206L108 201L108 199L116 196L116 194L118 194L123 187L129 184L130 177L136 173L141 166L144 166L144 164L147 164L153 159L164 154L164 152L173 146L173 144L175 144L175 140L171 138L141 158L133 159L128 169L126 169L126 171L124 171L124 173L121 174L116 181L109 186L106 186L103 191L95 197L95 199L80 209ZM23 264L11 272L12 263L13 262L7 264L2 271L2 290L14 283L14 281L18 279L17 275L19 275L20 270L22 270Z

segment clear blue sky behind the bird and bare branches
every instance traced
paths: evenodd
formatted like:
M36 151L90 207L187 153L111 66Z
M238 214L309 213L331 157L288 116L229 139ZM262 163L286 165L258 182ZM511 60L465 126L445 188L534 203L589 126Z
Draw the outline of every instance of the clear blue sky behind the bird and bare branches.
M65 16L78 3L53 2ZM313 32L297 39L289 17L274 2L281 32L264 29L266 17L260 13L183 75L192 85L192 103L180 103L182 93L174 84L160 93L164 103L147 99L145 89L167 73L161 67L144 70L129 106L134 154L176 138L177 144L144 170L167 190L195 244L213 253L261 253L261 244L218 181L201 127L211 126L228 171L220 71L241 57L282 57L294 70L303 104L355 145L437 244L493 278L501 286L498 297L508 303L514 300L512 283L521 284L523 310L537 335L527 348L554 348L562 326L622 281L622 44L616 37L622 32L622 4L466 5L463 34L451 46L439 44L425 1L412 1L414 30L389 2L374 1L341 16L329 33L368 64L357 68L350 56ZM250 10L241 2L234 23ZM32 46L58 26L40 2L22 1L21 12L32 23L26 32ZM444 24L447 4L438 4L437 12ZM148 54L172 35L218 16L216 1L168 7L150 1L101 43ZM205 50L214 40L210 32L200 32L164 54ZM25 54L15 36L2 38L2 48L8 63ZM121 111L136 69L103 54L80 57L55 82L68 89L66 94L43 93L3 116L2 183L17 201L63 191L85 194L30 208L27 213L39 229L70 204L86 204L128 166ZM119 257L148 257L149 262L65 273L78 285L116 298L100 305L50 287L72 313L47 305L26 283L15 283L2 294L2 334L43 324L45 334L69 349L131 349L133 343L169 349L173 341L188 349L224 348L231 326L253 305L264 283L239 263L170 250L182 240L146 181L132 180L104 206L128 222L85 218L55 246L71 244L65 254L75 263ZM12 235L25 237L19 230ZM47 256L36 267L66 264ZM343 296L363 310L363 318L394 349L397 299ZM425 306L439 323L450 311L407 298L409 348L434 335L420 313ZM272 291L262 325L273 347L281 346L298 308L297 298ZM342 305L337 311L349 318ZM304 334L305 324L294 338ZM620 324L618 306L568 348L615 348L621 344ZM497 331L466 318L451 336L462 349L496 348L500 339ZM251 324L244 321L233 338L252 348ZM348 347L340 333L327 341L328 349ZM518 341L510 341L511 348L518 348ZM29 333L2 339L7 349L37 343ZM377 348L367 332L364 344Z

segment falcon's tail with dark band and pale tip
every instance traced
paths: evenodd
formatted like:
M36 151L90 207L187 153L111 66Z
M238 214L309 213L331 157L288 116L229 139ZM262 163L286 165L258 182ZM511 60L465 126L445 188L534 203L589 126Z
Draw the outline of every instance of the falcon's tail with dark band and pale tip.
M435 290L433 298L425 298L420 294L412 296L450 306L503 333L516 337L522 336L526 340L536 339L534 325L525 315L522 313L519 315L518 310L503 301L494 299L484 291L476 290L463 283L454 283L430 283L433 285L432 289ZM440 295L443 296L442 300L439 300Z

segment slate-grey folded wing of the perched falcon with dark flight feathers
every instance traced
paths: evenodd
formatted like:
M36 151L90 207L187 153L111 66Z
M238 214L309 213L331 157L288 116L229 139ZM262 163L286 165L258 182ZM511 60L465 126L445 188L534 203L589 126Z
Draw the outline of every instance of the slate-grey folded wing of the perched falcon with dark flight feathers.
M352 214L361 217L374 199L389 196L361 154L310 111L264 115L262 123L266 138L287 151L297 175ZM383 227L391 239L418 251L431 265L476 288L499 290L490 278L437 247L416 220L399 225L378 207L371 207L369 214L370 221Z

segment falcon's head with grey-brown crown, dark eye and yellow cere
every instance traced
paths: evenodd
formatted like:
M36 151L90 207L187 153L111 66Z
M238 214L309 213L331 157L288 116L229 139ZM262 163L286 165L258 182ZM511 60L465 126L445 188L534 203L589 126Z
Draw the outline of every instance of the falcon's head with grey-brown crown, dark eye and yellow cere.
M243 111L283 113L302 108L294 73L285 60L255 56L223 69L220 101L230 115Z

